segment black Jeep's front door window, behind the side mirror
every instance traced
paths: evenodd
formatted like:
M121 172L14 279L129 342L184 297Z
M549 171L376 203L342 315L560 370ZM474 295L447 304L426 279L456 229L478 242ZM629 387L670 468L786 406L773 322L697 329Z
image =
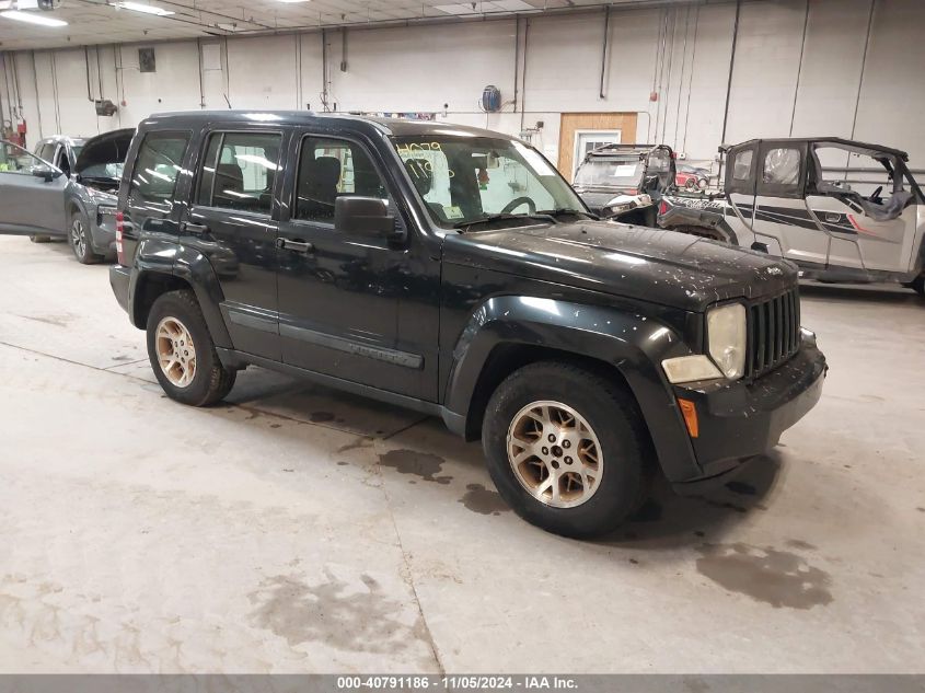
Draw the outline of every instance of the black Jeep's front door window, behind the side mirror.
M307 137L299 154L296 218L334 222L334 201L342 195L389 196L372 160L347 140Z

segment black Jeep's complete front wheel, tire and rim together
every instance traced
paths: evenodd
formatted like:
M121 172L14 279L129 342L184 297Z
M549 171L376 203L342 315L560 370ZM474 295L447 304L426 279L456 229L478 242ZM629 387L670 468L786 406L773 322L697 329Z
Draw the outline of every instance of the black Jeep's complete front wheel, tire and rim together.
M509 376L482 427L501 497L528 522L577 539L612 531L645 500L646 436L622 388L558 361Z

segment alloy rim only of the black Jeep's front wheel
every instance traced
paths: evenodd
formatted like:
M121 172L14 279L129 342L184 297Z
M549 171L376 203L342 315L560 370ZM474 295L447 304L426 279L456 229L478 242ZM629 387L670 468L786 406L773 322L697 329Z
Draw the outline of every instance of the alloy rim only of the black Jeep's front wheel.
M508 428L507 452L517 481L544 505L574 508L600 486L604 459L598 436L562 402L532 402L520 409Z

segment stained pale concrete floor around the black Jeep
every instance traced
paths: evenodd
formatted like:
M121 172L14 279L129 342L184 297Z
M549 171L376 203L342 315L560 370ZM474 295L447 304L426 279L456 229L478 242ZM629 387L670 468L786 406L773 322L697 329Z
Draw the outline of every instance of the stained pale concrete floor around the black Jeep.
M166 400L105 266L0 236L0 671L925 672L925 301L803 316L781 447L582 543L438 420L257 369Z

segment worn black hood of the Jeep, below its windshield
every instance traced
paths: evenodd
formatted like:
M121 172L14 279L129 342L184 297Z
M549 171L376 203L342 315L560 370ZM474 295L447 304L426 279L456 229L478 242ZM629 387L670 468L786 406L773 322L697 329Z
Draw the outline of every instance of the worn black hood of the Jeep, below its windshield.
M701 312L797 281L779 257L675 231L583 221L448 235L446 262Z

